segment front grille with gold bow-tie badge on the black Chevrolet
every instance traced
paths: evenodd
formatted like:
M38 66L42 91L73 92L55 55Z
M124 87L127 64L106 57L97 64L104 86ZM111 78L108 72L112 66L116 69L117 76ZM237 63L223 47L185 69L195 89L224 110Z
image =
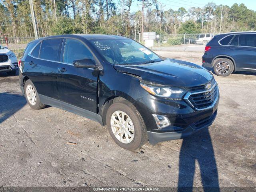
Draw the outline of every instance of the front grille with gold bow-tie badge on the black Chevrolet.
M188 100L196 109L202 110L211 106L217 97L218 86L216 84L214 88L210 89L209 91L190 94Z

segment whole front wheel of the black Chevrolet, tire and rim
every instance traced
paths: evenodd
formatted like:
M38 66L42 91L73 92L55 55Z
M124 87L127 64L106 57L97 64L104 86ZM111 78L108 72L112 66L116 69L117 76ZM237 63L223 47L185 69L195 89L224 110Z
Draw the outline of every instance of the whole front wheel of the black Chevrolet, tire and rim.
M124 124L122 128L120 126L111 127L111 124L116 123L116 120L118 120L116 112L119 114L119 117L121 119L122 117L124 117L124 120L126 120L125 122L128 123L127 126L130 128L127 128ZM111 118L115 115L116 120L114 121ZM129 118L131 121L129 120ZM144 145L148 141L146 126L144 124L142 116L140 115L138 110L127 100L118 100L108 108L106 113L106 123L111 137L116 142L116 144L118 144L122 148L133 151ZM120 131L120 133L115 136L113 130L115 132ZM127 131L129 131L130 134L128 134ZM128 136L128 140L126 140L126 136Z

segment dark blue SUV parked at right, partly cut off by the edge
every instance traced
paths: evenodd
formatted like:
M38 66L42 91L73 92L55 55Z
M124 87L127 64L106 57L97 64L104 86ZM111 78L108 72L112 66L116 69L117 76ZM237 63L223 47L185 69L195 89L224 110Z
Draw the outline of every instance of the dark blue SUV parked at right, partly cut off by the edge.
M203 67L219 76L232 72L256 72L256 32L234 32L214 36L206 45Z

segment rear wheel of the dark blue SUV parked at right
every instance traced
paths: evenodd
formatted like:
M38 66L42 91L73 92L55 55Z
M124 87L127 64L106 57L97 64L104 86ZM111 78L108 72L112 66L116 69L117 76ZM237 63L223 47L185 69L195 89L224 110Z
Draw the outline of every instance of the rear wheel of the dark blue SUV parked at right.
M216 75L226 77L234 71L234 64L230 59L220 58L214 61L213 70Z

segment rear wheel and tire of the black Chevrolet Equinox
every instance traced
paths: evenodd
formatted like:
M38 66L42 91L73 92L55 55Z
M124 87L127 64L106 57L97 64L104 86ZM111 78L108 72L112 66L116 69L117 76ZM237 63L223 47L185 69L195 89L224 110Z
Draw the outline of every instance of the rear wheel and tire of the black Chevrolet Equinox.
M27 90L28 88L28 90ZM38 92L30 79L26 80L24 85L24 94L28 105L35 110L42 109L46 105L40 102ZM31 96L29 96L31 95ZM35 99L34 99L35 96ZM34 102L33 102L34 101Z

